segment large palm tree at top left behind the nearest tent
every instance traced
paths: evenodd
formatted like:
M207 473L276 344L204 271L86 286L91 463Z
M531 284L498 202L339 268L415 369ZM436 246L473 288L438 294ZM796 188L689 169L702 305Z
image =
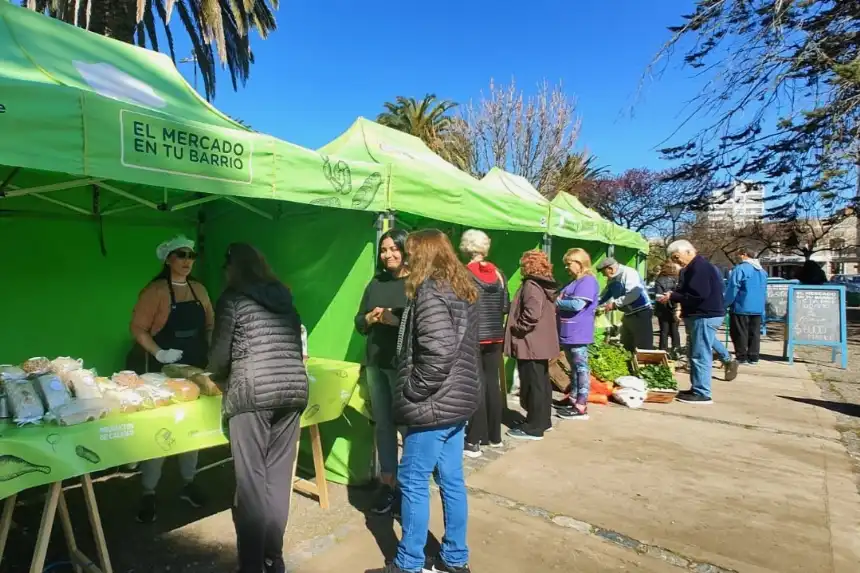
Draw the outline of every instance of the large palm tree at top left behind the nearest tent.
M193 49L206 98L215 97L217 62L230 72L233 89L244 84L254 55L249 32L266 38L277 27L278 0L22 0L23 5L91 32L161 51L159 34L176 62L170 19L174 9ZM271 5L271 7L270 7Z

